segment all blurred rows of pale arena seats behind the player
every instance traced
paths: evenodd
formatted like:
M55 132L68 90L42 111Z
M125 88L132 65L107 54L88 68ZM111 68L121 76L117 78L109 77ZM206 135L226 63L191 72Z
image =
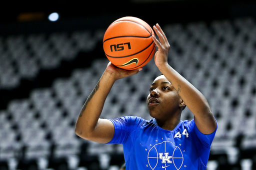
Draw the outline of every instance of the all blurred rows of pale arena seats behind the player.
M206 97L218 122L207 170L256 169L255 20L163 28L170 43L169 64ZM80 51L95 50L103 34L99 29L0 37L0 90L17 88L21 79L35 79L40 70L58 69L61 61L75 60ZM104 56L95 59L68 77L55 77L48 87L31 89L27 98L9 101L0 111L0 169L118 170L121 145L97 144L74 134L79 111L107 63ZM101 118L151 119L145 99L159 74L151 60L139 74L117 80ZM181 119L192 118L186 108Z

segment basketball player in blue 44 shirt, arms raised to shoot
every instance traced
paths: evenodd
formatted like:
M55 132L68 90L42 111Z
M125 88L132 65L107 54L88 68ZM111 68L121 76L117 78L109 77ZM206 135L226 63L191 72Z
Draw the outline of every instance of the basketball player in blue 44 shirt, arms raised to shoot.
M122 144L126 170L205 170L216 120L204 96L168 65L167 38L158 24L153 29L159 37L153 36L158 47L154 62L162 73L150 85L146 99L153 119L99 119L114 82L142 69L123 70L109 62L80 111L75 133L85 140ZM191 121L180 120L186 106L194 115Z

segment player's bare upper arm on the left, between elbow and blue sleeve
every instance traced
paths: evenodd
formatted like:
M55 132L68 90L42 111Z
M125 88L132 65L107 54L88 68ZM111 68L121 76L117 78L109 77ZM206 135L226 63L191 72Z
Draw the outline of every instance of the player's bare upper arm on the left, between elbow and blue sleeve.
M81 130L79 133L76 133L76 135L88 141L106 144L110 142L114 136L114 125L108 119L98 119L97 125L92 132L85 133Z

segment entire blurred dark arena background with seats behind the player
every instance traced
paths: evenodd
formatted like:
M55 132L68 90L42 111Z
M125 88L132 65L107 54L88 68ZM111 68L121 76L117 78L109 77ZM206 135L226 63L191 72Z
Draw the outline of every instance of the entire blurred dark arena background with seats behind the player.
M8 1L0 11L0 170L118 170L121 145L74 134L80 109L108 63L107 26L135 16L159 23L169 64L200 90L218 121L207 170L256 169L255 0ZM118 80L101 118L150 119L159 71ZM189 109L181 119L193 118Z

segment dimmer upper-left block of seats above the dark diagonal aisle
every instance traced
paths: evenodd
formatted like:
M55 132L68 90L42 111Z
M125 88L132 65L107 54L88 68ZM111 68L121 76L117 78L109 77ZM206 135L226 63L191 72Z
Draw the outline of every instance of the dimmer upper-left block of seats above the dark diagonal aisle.
M102 31L95 32L95 36L76 31L1 38L0 89L16 88L22 78L35 78L41 69L58 68L62 60L73 60L79 51L91 51L102 40Z

